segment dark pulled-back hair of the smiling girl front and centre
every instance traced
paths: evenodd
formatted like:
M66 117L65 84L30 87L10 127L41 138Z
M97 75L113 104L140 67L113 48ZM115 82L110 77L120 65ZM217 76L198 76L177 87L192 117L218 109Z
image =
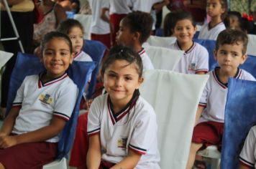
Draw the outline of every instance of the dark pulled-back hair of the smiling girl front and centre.
M116 60L125 60L129 62L129 64L136 64L139 77L142 77L143 65L140 55L137 54L137 52L134 52L131 48L121 45L116 45L110 49L109 55L106 57L101 67L102 77L104 76L107 67Z

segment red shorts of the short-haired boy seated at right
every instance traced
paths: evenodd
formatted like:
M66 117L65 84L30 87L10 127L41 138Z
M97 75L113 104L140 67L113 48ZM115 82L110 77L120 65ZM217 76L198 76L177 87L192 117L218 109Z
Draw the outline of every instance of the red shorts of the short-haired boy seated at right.
M224 130L222 122L201 122L193 128L193 143L203 143L200 150L207 148L209 145L217 145L221 150L221 141Z

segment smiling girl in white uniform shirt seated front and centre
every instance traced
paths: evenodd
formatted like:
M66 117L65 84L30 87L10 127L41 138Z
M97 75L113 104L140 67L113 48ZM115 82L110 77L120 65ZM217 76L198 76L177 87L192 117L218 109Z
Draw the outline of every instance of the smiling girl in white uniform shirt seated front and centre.
M160 168L155 112L138 90L142 69L132 49L109 52L101 69L107 94L96 97L88 112L88 168Z

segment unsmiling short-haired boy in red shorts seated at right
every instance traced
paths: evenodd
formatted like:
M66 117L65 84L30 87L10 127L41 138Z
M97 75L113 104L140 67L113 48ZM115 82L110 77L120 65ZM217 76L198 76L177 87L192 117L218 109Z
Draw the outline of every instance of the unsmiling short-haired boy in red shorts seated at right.
M247 35L239 30L224 30L217 38L214 57L219 67L209 72L210 77L198 105L187 169L193 167L199 149L209 145L221 148L229 77L255 81L250 73L238 68L247 59L247 43Z

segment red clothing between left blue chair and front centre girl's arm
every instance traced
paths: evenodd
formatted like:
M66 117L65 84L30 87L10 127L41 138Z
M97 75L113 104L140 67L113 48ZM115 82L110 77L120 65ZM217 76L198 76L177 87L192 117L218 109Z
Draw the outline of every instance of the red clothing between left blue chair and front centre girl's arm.
M88 113L78 117L76 137L70 154L69 165L77 168L86 168L89 137L87 135Z

